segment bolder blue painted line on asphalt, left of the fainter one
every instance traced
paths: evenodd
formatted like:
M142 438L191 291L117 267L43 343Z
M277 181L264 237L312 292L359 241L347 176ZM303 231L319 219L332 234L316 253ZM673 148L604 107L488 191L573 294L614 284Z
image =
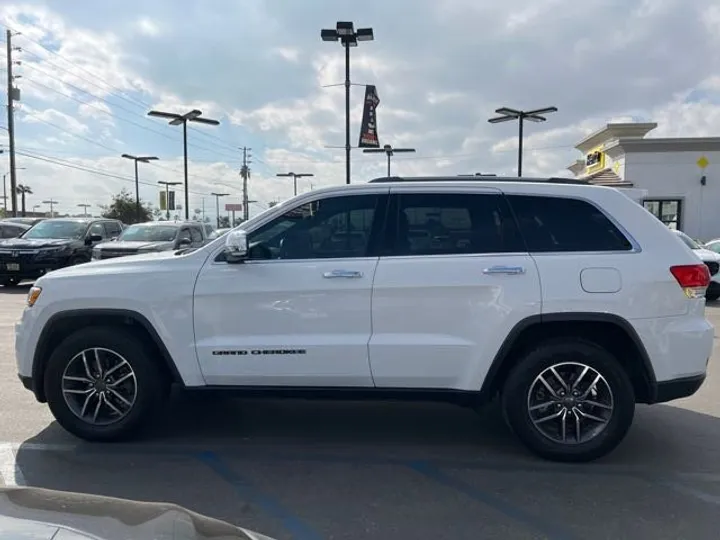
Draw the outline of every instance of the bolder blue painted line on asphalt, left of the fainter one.
M292 534L293 540L321 540L322 537L309 525L285 508L278 500L241 478L214 452L202 452L196 454L195 457L232 485L240 497L255 504L270 517L277 519Z

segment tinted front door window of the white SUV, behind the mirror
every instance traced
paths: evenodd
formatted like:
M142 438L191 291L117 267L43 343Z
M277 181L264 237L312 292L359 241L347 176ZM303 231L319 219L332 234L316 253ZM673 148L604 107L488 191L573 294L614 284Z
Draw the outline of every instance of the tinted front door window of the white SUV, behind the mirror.
M250 235L251 256L364 257L379 200L376 195L332 197L293 208Z

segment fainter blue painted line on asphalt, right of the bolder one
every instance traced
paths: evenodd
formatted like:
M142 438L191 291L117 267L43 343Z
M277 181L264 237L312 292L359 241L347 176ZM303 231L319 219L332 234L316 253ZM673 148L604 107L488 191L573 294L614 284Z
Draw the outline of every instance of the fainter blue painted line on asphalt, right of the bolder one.
M448 476L427 462L414 461L407 462L405 465L413 471L422 474L434 482L437 482L438 484L442 484L446 487L459 491L471 499L479 501L484 505L497 510L516 522L522 523L534 532L542 533L547 538L552 540L572 540L575 538L575 536L573 536L569 531L566 531L555 523L548 522L538 516L526 512L522 508L514 504L510 504L492 493L478 489L461 480Z

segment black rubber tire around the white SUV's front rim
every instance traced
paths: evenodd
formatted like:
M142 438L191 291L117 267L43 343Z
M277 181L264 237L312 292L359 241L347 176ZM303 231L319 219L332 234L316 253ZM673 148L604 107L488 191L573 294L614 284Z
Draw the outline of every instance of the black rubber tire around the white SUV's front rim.
M63 373L81 351L91 348L109 349L122 358L135 373L137 394L126 416L109 425L95 425L77 416L65 400L62 390ZM147 346L132 332L117 327L90 327L67 337L53 351L45 370L45 396L58 423L70 433L87 441L119 441L130 439L145 427L166 395L168 381Z

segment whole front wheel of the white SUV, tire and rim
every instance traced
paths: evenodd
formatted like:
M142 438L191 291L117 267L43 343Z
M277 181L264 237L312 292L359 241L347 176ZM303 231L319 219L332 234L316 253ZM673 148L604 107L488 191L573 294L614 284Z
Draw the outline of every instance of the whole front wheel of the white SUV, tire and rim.
M142 340L115 327L66 338L48 360L45 395L58 423L88 441L135 435L164 396L165 381Z

